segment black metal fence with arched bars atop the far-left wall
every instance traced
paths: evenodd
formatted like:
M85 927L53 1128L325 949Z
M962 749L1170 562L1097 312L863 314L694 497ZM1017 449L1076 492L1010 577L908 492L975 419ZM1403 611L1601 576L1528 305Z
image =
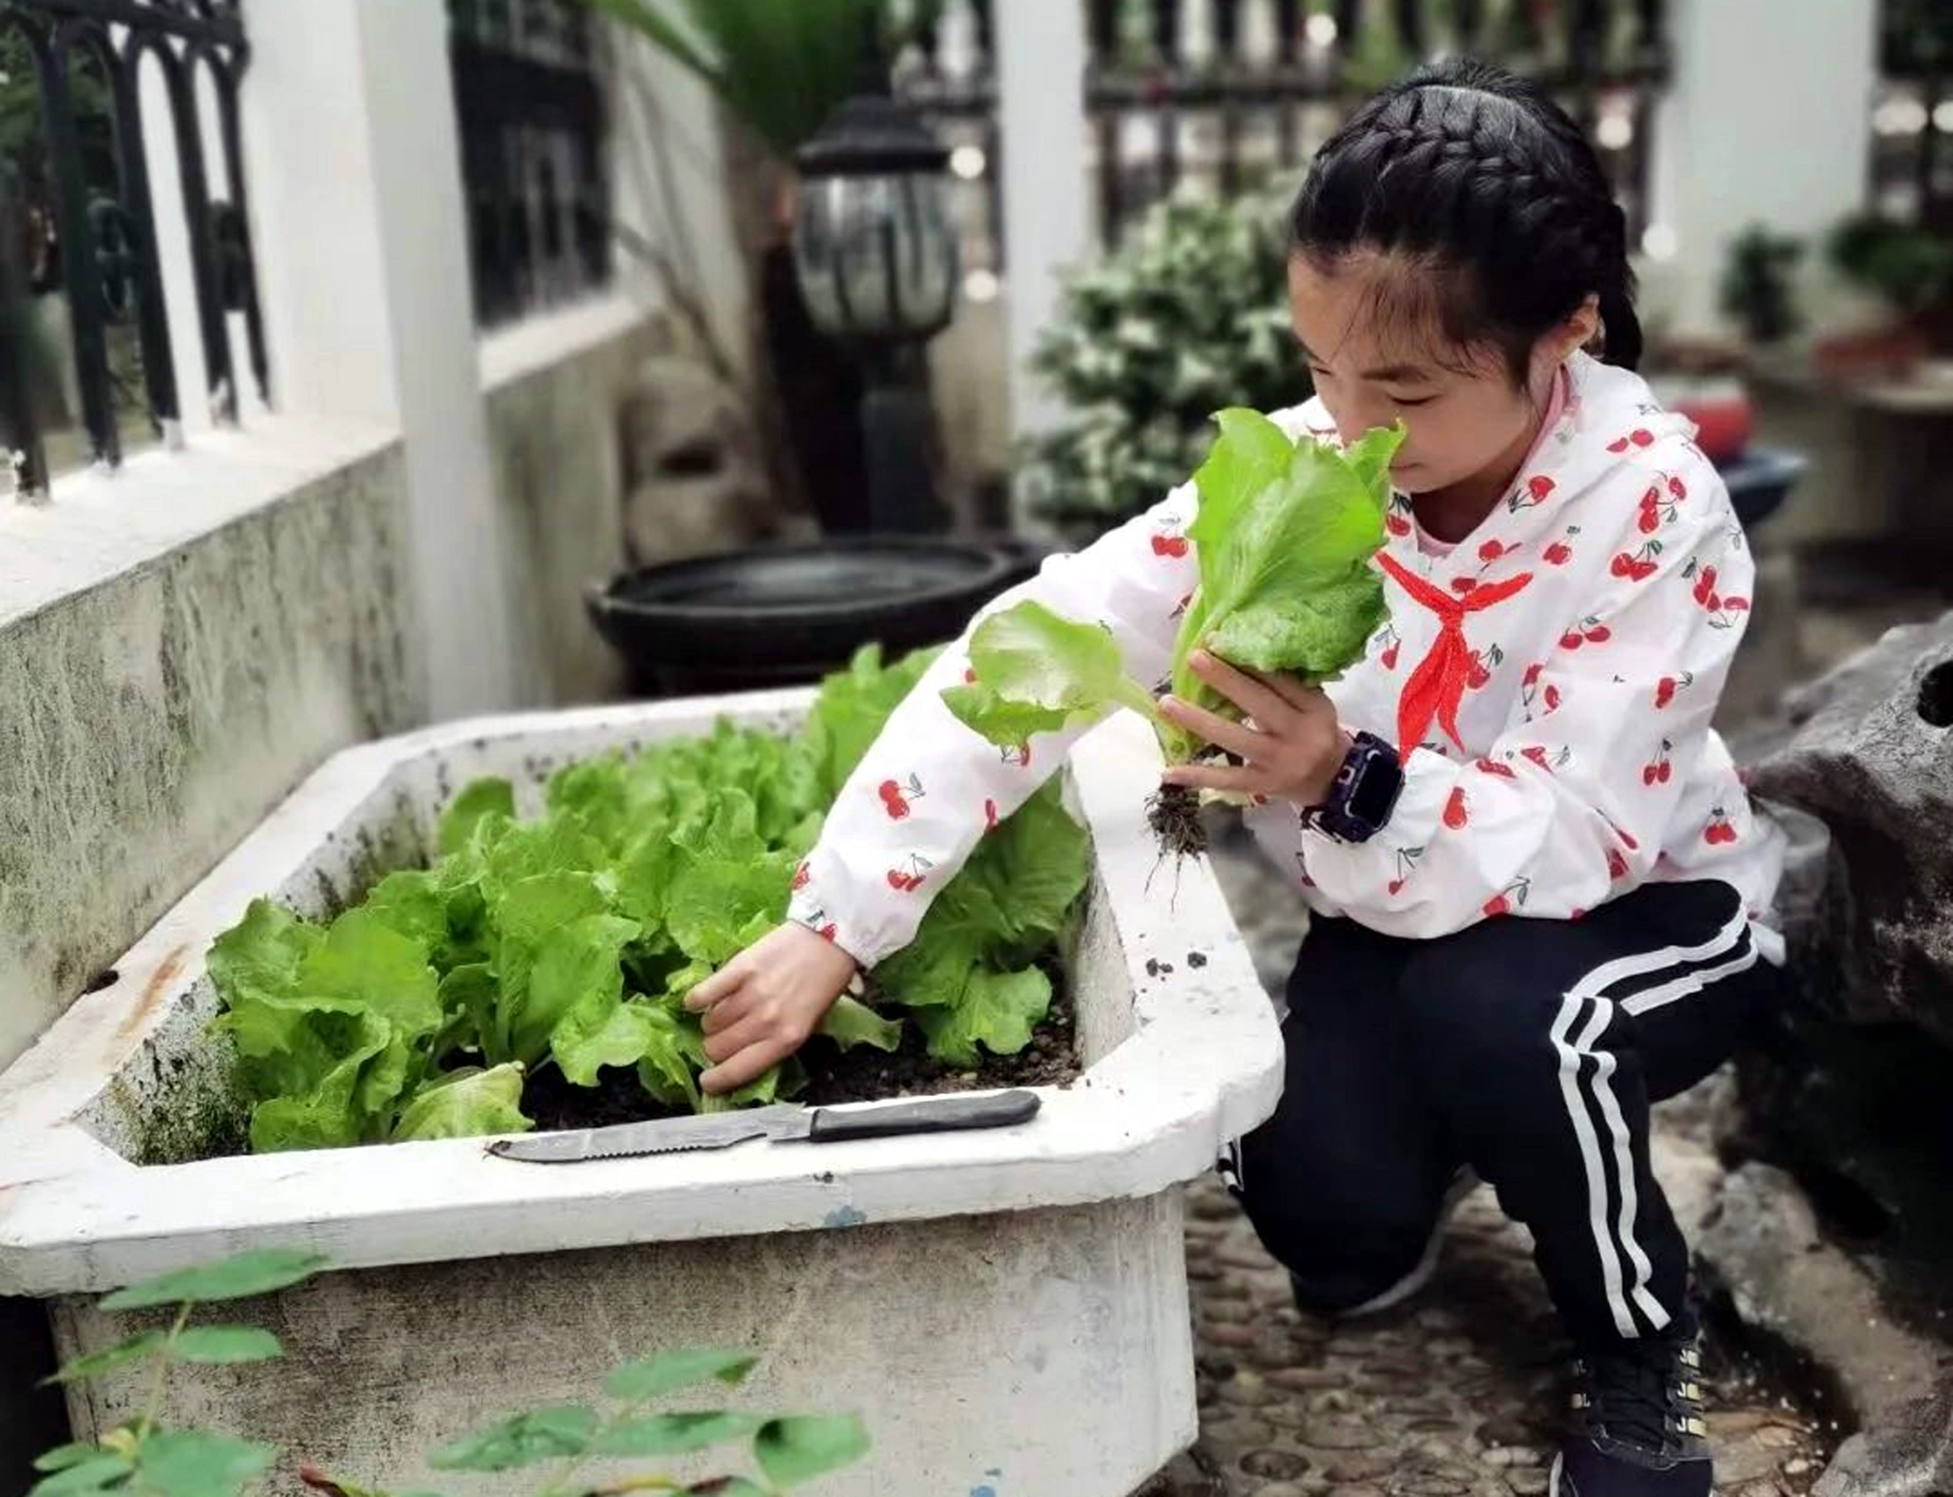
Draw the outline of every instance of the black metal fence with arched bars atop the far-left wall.
M248 57L238 0L0 0L0 443L21 492L45 494L70 386L96 463L176 429L158 230L187 238L213 414L236 418L232 312L270 398L238 127ZM150 74L166 113L145 119ZM145 131L174 144L182 226L158 224Z

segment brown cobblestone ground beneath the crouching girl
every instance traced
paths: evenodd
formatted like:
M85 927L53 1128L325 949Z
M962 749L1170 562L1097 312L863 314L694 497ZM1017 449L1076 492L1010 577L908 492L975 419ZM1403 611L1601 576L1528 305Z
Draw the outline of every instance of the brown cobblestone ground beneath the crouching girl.
M1219 831L1219 828L1217 828ZM1252 847L1223 835L1223 884L1279 984L1303 919ZM1680 1109L1664 1155L1680 1196L1713 1161ZM1676 1130L1682 1130L1680 1136ZM1701 1196L1697 1194L1697 1200ZM1381 1319L1332 1325L1295 1310L1217 1179L1187 1193L1187 1276L1201 1438L1146 1497L1539 1497L1564 1407L1568 1349L1539 1284L1531 1239L1490 1191L1451 1222L1422 1296ZM1742 1497L1807 1493L1822 1470L1816 1419L1717 1345L1705 1392L1717 1485Z

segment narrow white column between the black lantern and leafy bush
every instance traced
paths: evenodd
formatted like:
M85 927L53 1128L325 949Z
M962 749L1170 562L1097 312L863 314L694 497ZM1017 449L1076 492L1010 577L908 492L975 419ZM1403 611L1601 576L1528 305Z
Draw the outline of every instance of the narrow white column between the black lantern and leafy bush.
M1031 347L1059 304L1059 279L1092 252L1086 180L1086 23L1078 0L994 8L1010 256L1010 408L1016 435L1049 429L1062 406L1031 379Z

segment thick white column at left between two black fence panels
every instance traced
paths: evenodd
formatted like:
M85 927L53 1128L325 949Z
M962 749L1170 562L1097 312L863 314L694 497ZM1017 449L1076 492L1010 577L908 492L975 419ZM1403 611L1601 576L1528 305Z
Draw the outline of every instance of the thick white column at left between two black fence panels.
M514 705L447 8L246 0L252 236L285 412L396 424L436 718Z

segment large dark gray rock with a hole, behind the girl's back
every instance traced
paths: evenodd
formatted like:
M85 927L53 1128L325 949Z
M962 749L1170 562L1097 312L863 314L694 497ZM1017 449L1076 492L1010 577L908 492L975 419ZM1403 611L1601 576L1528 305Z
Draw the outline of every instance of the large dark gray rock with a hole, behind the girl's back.
M1812 997L1953 1040L1953 615L1894 628L1799 712L1752 789L1832 833L1822 917L1791 929L1803 970L1826 974Z

